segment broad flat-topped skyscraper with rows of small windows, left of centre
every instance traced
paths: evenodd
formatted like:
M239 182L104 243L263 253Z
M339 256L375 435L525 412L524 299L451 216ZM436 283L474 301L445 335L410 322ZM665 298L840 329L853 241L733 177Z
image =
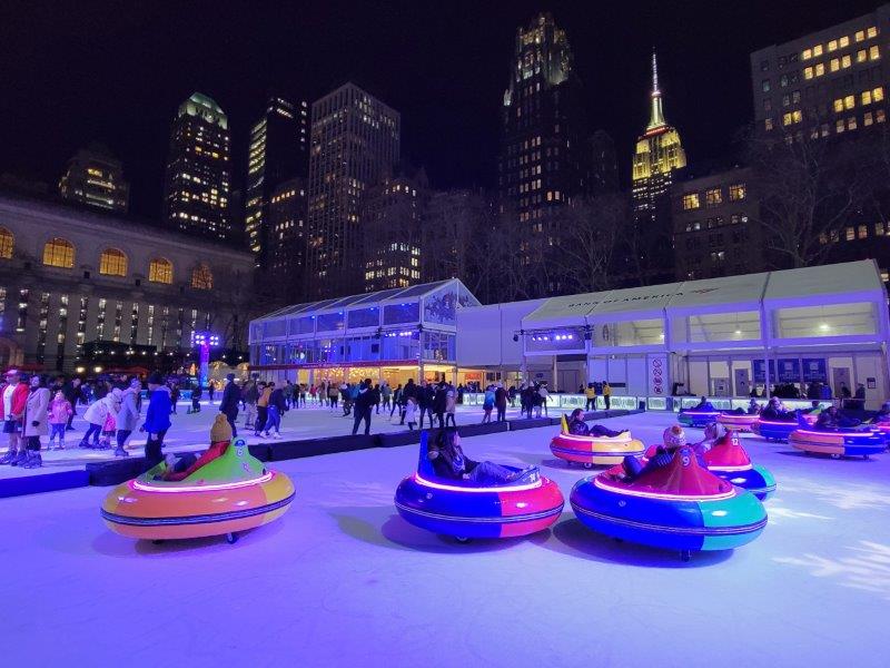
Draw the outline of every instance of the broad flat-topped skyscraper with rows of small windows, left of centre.
M313 104L309 150L307 294L363 292L362 200L393 174L399 157L398 111L354 84Z

